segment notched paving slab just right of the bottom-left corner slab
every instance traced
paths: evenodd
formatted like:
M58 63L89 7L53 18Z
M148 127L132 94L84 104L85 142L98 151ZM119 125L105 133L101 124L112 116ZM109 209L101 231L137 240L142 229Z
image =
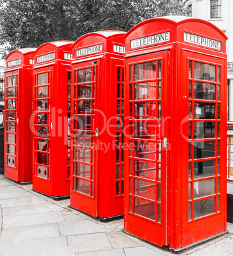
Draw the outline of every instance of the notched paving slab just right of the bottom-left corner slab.
M74 246L74 252L92 252L112 249L105 232L67 236L68 246Z

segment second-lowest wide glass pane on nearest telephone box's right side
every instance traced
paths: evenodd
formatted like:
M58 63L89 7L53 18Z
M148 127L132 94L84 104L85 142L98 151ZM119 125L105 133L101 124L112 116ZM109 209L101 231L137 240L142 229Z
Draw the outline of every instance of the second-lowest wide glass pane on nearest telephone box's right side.
M215 179L194 182L194 199L215 194Z

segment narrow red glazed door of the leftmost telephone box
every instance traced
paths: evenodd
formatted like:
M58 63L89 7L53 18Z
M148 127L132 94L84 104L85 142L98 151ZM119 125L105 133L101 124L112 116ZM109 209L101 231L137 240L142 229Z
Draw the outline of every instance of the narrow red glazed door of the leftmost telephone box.
M17 169L18 173L18 70L5 75L6 86L6 114L5 114L5 164ZM15 177L16 178L16 177Z

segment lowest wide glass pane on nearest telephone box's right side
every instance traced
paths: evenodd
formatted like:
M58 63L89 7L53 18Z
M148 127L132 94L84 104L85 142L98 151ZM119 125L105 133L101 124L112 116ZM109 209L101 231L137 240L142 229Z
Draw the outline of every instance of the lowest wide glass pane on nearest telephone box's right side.
M215 197L194 202L194 218L199 218L215 212Z

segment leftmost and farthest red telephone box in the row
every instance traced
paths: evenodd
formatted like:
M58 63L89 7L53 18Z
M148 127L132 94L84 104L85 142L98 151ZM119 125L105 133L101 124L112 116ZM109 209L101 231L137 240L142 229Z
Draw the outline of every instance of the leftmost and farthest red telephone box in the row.
M32 182L32 66L36 48L13 50L5 71L5 176Z

